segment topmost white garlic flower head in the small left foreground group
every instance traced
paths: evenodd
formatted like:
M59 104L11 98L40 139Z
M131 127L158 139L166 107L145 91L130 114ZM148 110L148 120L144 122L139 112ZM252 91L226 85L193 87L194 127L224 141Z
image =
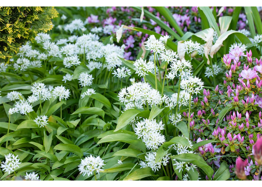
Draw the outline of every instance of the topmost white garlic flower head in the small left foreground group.
M50 90L45 86L44 83L35 82L31 91L33 92L33 95L36 96L38 100L41 99L41 101L49 100L52 97Z

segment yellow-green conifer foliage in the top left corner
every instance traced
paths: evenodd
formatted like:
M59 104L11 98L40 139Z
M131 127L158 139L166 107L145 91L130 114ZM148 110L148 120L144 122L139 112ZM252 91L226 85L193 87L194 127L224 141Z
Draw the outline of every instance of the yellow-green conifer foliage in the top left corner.
M53 6L0 6L0 62L9 62L38 32L51 30L57 16Z

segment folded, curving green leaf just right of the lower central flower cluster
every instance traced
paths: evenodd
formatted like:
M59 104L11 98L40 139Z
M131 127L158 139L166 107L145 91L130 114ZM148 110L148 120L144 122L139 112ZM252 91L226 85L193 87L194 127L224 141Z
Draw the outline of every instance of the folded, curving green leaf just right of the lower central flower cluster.
M187 140L187 138L182 137L182 136L176 136L176 137L172 138L170 141L167 141L167 142L163 143L159 147L159 149L156 151L156 156L155 156L156 162L158 162L160 159L163 158L163 156L165 156L168 153L168 147L169 146L171 146L173 144L176 144L176 143L179 143L179 144L181 144L183 146L190 147L190 143Z

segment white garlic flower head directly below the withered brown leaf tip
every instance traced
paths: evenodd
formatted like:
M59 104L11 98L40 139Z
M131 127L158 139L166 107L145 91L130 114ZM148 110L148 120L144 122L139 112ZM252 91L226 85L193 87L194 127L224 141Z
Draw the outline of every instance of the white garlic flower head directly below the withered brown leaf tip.
M175 60L170 64L170 70L172 73L177 75L178 77L182 76L185 71L191 72L192 65L189 60L185 60L185 58L181 60Z

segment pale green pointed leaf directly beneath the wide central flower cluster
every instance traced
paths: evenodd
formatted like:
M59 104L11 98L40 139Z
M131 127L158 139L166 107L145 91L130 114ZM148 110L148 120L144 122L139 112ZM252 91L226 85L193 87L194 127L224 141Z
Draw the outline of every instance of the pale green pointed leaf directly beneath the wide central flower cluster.
M116 129L114 130L115 132L122 129L123 127L125 127L127 124L129 124L135 117L136 115L139 113L139 110L136 109L128 109L126 111L124 111L117 122L116 125Z

